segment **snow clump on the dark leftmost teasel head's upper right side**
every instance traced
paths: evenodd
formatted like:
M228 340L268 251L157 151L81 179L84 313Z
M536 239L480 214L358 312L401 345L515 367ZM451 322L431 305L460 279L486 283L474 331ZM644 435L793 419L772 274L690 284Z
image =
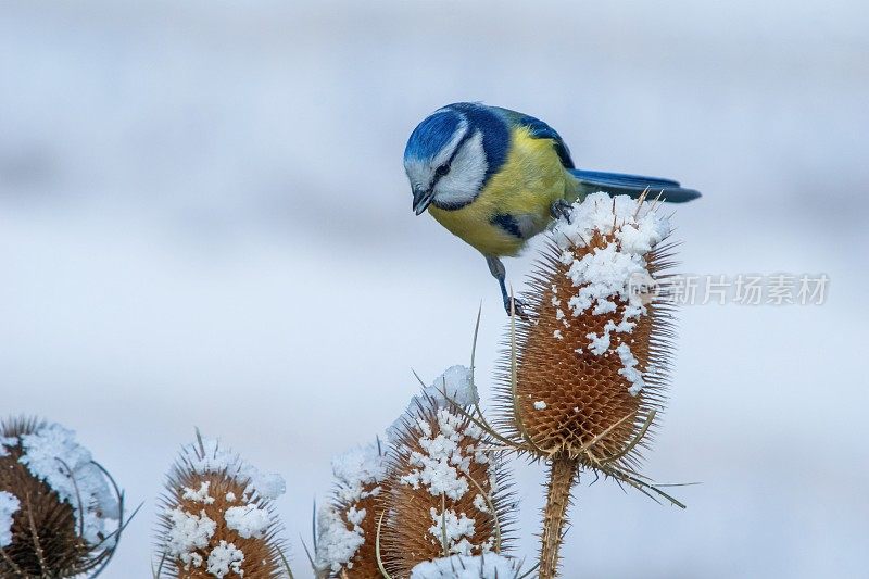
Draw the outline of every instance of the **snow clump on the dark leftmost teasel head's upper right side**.
M119 517L118 503L90 452L75 441L75 432L51 424L24 435L21 442L24 454L18 462L73 506L84 529L83 539L100 543L108 534L106 519ZM112 539L106 543L111 545Z

